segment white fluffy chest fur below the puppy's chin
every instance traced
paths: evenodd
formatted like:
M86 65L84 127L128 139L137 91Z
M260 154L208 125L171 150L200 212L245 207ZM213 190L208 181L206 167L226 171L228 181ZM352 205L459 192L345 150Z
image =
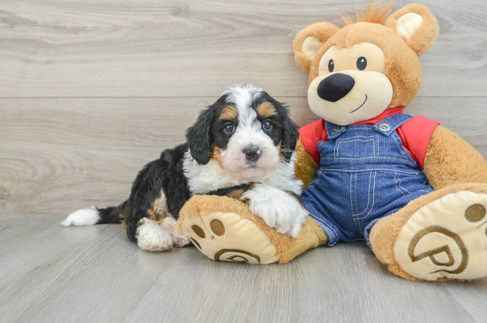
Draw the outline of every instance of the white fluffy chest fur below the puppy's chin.
M188 150L184 155L183 169L184 174L188 178L188 184L192 194L207 194L220 188L257 182L301 195L303 182L294 178L295 155L296 153L293 154L289 163L286 161L279 161L275 169L264 176L243 179L233 177L232 174L225 171L217 161L210 160L206 165L198 164L191 157Z

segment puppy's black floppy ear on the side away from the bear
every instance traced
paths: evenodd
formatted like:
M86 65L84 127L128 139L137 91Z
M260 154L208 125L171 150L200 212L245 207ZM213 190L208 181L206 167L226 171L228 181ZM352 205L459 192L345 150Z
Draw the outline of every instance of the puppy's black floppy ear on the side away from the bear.
M212 123L213 113L209 107L202 111L195 124L186 130L186 141L191 157L200 165L206 165L210 161Z

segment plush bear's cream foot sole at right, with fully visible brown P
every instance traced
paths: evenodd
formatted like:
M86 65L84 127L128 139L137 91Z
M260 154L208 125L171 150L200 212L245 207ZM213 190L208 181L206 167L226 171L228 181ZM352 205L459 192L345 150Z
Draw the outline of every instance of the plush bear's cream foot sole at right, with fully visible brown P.
M396 261L413 277L487 275L487 195L460 191L416 211L395 242Z

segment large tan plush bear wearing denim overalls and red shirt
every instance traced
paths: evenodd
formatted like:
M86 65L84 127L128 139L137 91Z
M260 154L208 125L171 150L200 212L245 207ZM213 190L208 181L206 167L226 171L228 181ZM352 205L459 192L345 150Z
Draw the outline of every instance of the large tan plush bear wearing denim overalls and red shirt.
M344 20L294 40L310 108L323 118L300 130L296 147L310 212L299 236L217 196L189 200L180 229L215 260L284 263L321 244L365 240L406 279L486 276L487 162L439 122L403 113L421 86L418 56L436 41L436 18L410 4Z

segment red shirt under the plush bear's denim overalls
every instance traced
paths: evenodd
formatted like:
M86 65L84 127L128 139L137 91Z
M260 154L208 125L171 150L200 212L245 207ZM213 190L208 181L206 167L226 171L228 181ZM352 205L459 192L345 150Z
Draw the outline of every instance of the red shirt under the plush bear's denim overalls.
M375 125L379 121L396 113L403 113L403 108L396 107L386 110L373 119L360 121L353 125ZM431 139L434 128L439 124L438 121L418 115L412 117L396 129L396 132L403 141L404 149L406 149L406 152L409 153L414 161L419 163L421 169L424 168L424 156L426 155L429 140ZM321 119L304 126L299 130L299 135L308 153L319 164L321 157L317 145L320 141L328 141L325 120Z

